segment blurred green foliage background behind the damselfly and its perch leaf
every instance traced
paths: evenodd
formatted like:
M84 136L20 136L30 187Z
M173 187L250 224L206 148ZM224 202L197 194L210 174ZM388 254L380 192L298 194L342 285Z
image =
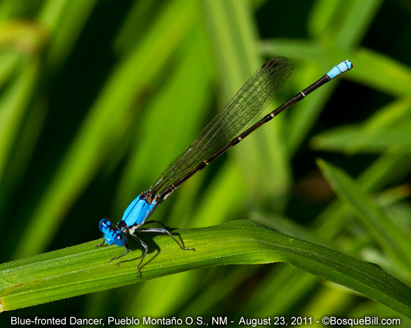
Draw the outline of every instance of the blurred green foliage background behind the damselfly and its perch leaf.
M186 182L153 219L255 220L410 285L390 236L315 162L356 179L409 240L410 16L400 0L1 2L0 261L99 238L101 218L118 221L251 73L283 55L294 73L271 109L341 61L355 67ZM282 263L196 269L0 323L11 315L401 317Z

